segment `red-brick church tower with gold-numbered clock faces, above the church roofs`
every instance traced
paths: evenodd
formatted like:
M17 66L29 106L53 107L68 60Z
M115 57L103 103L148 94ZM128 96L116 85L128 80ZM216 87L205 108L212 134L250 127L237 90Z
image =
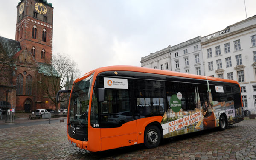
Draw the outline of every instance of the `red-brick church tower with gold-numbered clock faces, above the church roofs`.
M17 6L15 40L37 62L52 61L53 9L47 0L21 0Z

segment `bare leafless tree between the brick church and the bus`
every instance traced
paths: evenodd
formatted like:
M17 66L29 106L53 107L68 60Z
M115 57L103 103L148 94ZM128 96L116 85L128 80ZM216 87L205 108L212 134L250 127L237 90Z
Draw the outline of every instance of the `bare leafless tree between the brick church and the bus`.
M57 53L52 56L52 65L44 64L44 76L41 77L41 90L55 105L58 112L56 95L59 90L66 87L67 76L79 74L79 69L69 55Z

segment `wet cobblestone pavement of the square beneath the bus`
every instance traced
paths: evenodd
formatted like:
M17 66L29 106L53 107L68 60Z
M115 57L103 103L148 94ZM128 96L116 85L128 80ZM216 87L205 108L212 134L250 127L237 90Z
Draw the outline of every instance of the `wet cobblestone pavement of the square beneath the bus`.
M225 131L211 129L165 140L159 147L129 146L89 152L67 140L67 124L41 124L0 129L3 160L251 160L256 159L256 120L244 120Z

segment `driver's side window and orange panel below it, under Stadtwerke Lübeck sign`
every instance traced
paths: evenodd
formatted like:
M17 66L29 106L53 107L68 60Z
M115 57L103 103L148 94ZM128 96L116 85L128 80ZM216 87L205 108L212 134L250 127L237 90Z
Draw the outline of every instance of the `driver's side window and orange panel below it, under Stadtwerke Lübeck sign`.
M137 144L137 123L128 89L105 89L100 102L101 149Z

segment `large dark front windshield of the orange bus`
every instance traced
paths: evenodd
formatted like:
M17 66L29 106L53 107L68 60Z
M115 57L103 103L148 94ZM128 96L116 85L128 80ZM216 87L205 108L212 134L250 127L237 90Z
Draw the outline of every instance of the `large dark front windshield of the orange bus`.
M69 122L88 123L88 108L93 74L74 84L70 96Z

